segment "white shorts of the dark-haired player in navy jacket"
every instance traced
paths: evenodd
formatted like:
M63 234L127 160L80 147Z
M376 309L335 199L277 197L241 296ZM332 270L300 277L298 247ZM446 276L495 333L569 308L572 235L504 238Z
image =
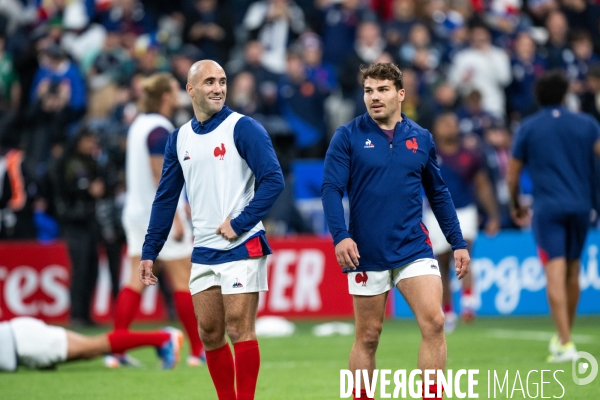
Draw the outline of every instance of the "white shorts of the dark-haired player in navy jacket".
M348 272L348 291L359 296L375 296L389 291L403 279L424 275L440 275L433 258L421 258L387 271Z

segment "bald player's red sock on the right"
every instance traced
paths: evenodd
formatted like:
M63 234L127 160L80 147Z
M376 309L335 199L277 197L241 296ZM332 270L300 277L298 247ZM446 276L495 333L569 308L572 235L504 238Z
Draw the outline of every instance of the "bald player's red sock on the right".
M248 340L233 345L235 351L235 383L237 400L254 400L260 369L258 341Z

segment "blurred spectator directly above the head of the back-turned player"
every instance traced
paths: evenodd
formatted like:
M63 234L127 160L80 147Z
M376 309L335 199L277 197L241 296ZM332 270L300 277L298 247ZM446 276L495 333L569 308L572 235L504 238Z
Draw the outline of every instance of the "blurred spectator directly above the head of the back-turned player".
M568 49L567 33L569 26L565 15L560 11L552 11L546 20L548 41L542 47L542 56L546 58L548 70L564 68L573 55Z

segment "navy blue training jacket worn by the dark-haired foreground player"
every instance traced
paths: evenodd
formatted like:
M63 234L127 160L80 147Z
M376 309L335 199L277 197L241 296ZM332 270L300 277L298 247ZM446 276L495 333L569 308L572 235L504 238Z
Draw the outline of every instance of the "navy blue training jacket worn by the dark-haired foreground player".
M433 258L422 222L421 185L452 249L466 249L452 198L442 180L431 133L402 114L392 143L368 113L337 129L323 176L323 208L337 245L351 237L358 271L398 268ZM346 229L342 197L350 199Z

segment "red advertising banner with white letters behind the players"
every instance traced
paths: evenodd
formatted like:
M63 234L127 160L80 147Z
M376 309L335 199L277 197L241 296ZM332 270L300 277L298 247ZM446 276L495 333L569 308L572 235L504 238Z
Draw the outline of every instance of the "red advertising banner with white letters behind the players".
M269 291L261 293L259 315L286 318L352 317L352 297L346 275L340 272L330 239L313 236L270 238ZM125 253L123 253L125 254ZM32 316L66 323L69 316L71 277L67 249L62 242L0 243L0 320ZM130 268L123 257L121 283L129 280ZM388 302L388 306L391 302ZM98 322L112 321L110 275L100 257L93 315ZM388 315L391 307L388 307ZM137 321L164 320L167 316L157 286L144 291Z

